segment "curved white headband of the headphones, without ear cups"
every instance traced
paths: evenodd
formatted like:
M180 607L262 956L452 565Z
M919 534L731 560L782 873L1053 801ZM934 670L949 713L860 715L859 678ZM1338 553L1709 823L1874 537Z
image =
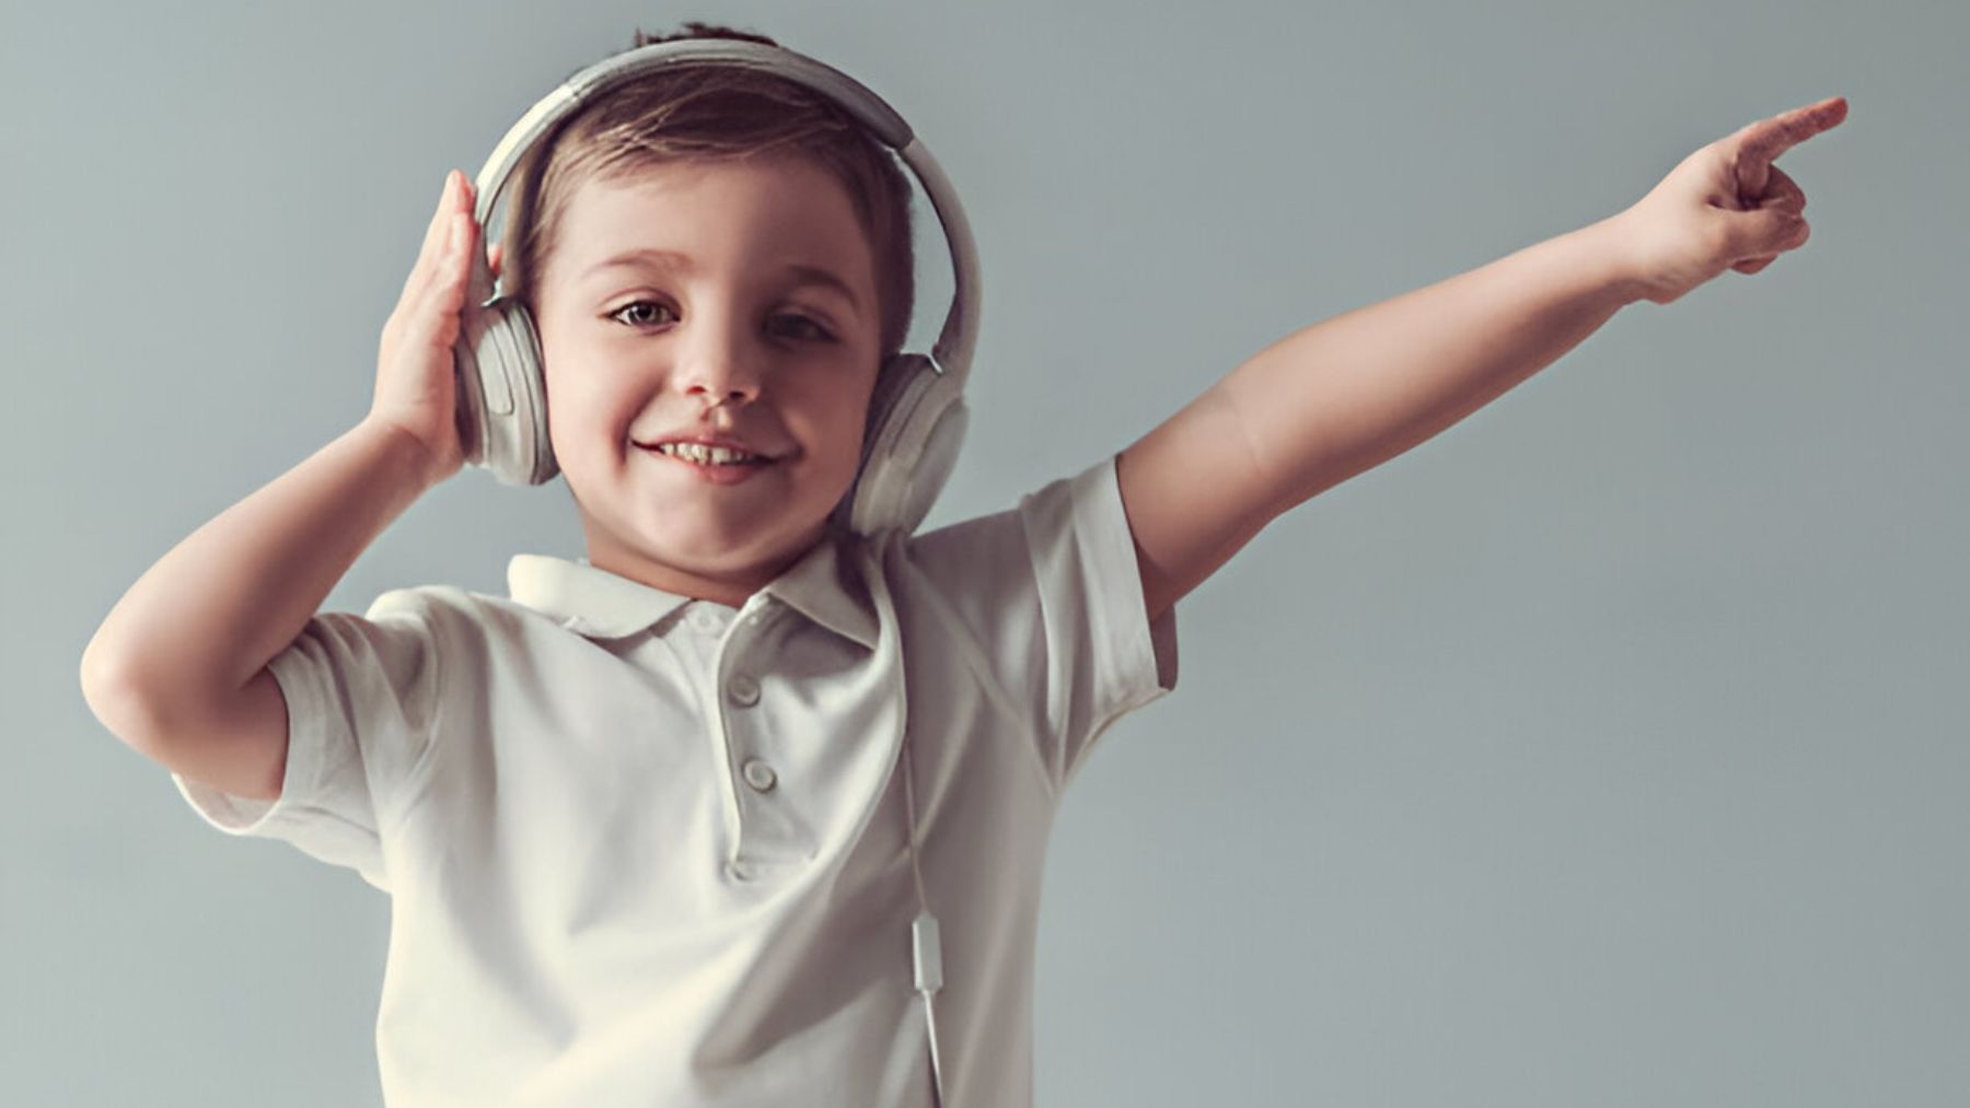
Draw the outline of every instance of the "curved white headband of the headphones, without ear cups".
M963 205L957 203L957 193L944 175L944 167L938 165L930 150L924 148L924 142L916 138L894 108L847 73L804 53L739 39L678 39L636 47L581 69L563 81L559 89L548 92L538 104L528 108L506 132L506 138L492 148L477 177L479 211L475 213L475 220L479 226L487 226L487 218L491 218L492 209L506 191L514 167L556 124L603 91L672 65L756 69L806 85L853 114L869 134L902 157L904 165L910 167L930 195L938 222L944 226L944 240L952 252L955 289L952 291L952 307L944 317L944 329L938 333L936 346L932 346L932 358L940 376L952 378L952 386L961 392L965 380L971 376L971 352L977 342L979 317L977 246L971 242L971 224L965 218ZM492 301L492 272L483 254L473 256L469 295L479 305Z

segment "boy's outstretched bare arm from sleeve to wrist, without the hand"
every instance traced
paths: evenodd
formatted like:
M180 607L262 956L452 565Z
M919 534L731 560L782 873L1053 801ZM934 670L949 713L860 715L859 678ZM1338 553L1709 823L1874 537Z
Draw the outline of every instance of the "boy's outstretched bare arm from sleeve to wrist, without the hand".
M1430 439L1637 299L1600 226L1275 342L1121 453L1154 620L1286 510Z

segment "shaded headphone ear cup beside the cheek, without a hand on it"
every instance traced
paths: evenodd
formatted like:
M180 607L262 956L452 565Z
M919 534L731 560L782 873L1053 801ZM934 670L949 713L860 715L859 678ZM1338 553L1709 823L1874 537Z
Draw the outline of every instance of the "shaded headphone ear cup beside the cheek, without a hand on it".
M963 392L922 354L883 364L863 437L863 464L845 504L847 529L910 533L938 500L963 445Z

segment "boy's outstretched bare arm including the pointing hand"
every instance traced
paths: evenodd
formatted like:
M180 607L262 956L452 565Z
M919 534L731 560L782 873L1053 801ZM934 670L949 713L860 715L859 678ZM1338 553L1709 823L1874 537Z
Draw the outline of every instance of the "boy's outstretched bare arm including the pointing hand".
M1830 98L1718 140L1631 209L1267 346L1115 461L1150 620L1286 510L1430 439L1598 331L1806 240L1783 150Z

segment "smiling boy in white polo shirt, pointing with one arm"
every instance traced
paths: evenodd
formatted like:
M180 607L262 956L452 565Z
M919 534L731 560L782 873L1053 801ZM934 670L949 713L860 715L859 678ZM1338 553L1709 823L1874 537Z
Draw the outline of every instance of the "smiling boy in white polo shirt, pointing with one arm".
M780 138L821 118L751 81ZM447 175L368 417L167 553L83 657L98 718L207 821L392 895L392 1104L922 1104L934 1069L952 1104L1028 1104L1050 819L1174 687L1174 604L1621 305L1801 246L1771 161L1846 116L1749 124L1615 216L1282 339L1017 510L877 543L831 518L910 315L896 179L839 136L678 154L680 89L591 108L613 122L567 132L512 240L585 561L315 610L463 468L479 228Z

